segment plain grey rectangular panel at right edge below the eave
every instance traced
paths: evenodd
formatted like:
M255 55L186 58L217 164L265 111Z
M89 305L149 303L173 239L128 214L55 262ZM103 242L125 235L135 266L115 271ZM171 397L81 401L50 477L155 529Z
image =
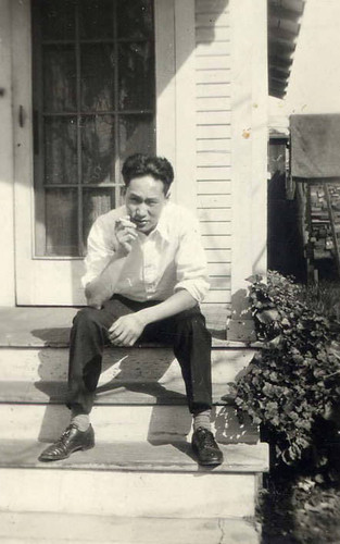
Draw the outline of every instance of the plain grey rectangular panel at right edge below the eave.
M291 174L340 177L340 114L291 115Z

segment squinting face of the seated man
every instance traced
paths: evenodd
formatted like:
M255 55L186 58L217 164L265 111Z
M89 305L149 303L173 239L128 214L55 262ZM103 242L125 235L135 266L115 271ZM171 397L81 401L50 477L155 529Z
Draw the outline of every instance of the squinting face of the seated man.
M126 189L125 205L128 214L137 230L143 234L155 228L166 202L163 182L150 175L135 177Z

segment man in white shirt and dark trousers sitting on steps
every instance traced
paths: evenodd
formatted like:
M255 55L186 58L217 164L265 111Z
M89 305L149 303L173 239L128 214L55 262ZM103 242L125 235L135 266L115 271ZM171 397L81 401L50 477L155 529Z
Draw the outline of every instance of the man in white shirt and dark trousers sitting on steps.
M89 413L105 344L156 338L173 345L181 367L198 461L219 465L223 454L210 429L211 335L199 309L209 284L197 223L168 200L174 172L166 159L134 154L122 174L125 205L99 217L88 238L88 308L77 313L71 332L71 424L39 459L64 459L95 446Z

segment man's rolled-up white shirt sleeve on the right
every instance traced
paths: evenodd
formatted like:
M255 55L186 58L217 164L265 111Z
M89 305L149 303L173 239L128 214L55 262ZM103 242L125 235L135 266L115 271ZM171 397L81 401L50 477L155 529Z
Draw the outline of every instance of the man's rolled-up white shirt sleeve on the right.
M174 292L187 289L198 302L202 302L209 290L209 282L198 222L190 218L182 231L176 254L177 283Z

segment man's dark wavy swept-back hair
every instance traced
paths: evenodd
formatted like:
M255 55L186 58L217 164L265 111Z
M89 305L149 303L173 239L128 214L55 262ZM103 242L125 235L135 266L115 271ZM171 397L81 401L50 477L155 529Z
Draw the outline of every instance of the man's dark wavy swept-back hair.
M163 182L165 195L174 181L174 170L167 159L142 153L128 157L123 164L122 174L127 187L135 177L151 175Z

